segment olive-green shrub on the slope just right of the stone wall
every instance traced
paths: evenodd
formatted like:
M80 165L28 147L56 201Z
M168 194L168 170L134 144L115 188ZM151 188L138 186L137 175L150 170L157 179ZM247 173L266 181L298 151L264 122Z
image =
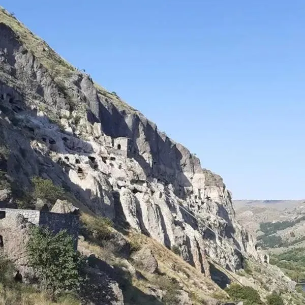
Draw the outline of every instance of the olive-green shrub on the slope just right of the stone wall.
M84 229L90 235L92 235L98 241L98 243L102 243L104 240L110 237L113 222L109 218L82 215L81 221Z

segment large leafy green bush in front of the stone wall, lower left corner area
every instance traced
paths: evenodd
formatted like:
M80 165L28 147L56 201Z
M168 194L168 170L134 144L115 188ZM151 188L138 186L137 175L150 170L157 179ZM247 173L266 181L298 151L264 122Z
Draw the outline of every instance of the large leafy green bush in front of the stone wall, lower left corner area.
M27 243L29 263L51 295L79 287L81 258L74 251L73 238L64 231L54 234L47 228L33 227Z

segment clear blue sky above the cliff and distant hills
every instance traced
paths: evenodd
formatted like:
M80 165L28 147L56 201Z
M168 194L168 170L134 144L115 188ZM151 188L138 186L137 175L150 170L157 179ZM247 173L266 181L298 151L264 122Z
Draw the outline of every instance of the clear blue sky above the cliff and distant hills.
M234 199L305 199L304 0L1 5L196 153Z

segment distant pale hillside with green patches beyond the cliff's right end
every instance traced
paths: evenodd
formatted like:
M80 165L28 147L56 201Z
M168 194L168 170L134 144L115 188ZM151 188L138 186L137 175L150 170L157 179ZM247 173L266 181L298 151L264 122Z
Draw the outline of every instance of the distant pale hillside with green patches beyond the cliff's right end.
M264 248L272 252L304 246L303 200L236 200L236 219L247 225Z

